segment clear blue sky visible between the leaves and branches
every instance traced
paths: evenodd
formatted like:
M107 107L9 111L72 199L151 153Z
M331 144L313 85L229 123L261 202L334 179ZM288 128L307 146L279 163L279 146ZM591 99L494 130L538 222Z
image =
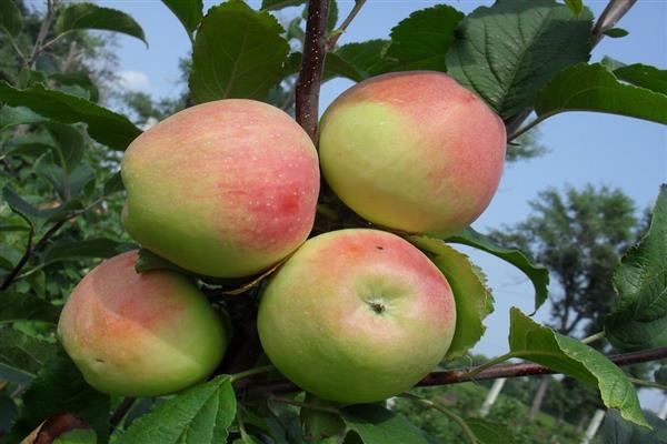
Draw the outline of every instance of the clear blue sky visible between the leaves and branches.
M120 65L125 82L130 88L149 92L156 98L173 95L179 78L178 58L190 49L187 36L170 11L158 0L108 0L102 6L132 14L147 33L149 48L131 38L119 37ZM370 0L354 21L340 43L387 38L389 30L410 12L441 2ZM462 12L470 12L490 1L449 1ZM585 1L598 17L606 1ZM215 4L206 1L205 8ZM250 1L258 7L258 1ZM344 17L354 1L341 1ZM298 9L278 13L281 21L293 17ZM604 56L626 63L641 62L665 69L667 67L667 0L643 0L621 20L619 27L629 31L623 39L606 38L595 49L593 61ZM325 84L321 107L325 109L352 83L334 80ZM566 184L581 188L587 183L620 188L639 209L653 204L658 186L667 182L667 129L656 123L608 114L567 113L556 115L539 125L540 141L550 152L539 159L508 165L489 209L475 222L479 231L512 224L528 215L528 201L549 186L563 189ZM509 307L532 311L534 293L526 279L501 261L466 250L488 274L496 299L496 312L487 320L487 334L474 352L487 355L507 350ZM613 295L609 295L613 297ZM536 319L548 319L549 307L542 306ZM643 391L646 407L657 408L661 396Z

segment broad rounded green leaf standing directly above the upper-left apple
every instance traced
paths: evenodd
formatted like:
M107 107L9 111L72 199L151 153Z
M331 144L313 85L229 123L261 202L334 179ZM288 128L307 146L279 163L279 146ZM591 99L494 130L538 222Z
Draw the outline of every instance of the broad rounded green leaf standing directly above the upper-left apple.
M289 51L282 32L270 13L255 11L242 1L211 8L195 41L192 100L265 99L282 78Z

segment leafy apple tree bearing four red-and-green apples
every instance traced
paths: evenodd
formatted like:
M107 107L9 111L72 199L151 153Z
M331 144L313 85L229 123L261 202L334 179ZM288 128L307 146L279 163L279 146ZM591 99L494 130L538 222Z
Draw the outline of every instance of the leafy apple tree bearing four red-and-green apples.
M665 440L636 385L667 387L621 370L667 357L665 185L614 271L601 331L576 340L512 309L506 351L448 365L494 310L457 245L525 273L534 311L549 296L547 268L468 226L504 158L558 113L667 124L665 70L589 62L600 39L623 37L635 1L598 18L580 0L467 16L438 4L387 39L346 44L364 0L340 20L335 0L163 3L192 44L187 109L142 131L53 51L76 53L90 30L146 41L130 16L47 0L34 22L0 1L13 51L0 80L0 442L432 442L386 402L398 396L470 443L505 443L511 426L422 387L555 373L599 392L607 442ZM283 27L273 11L287 7L303 13ZM357 84L320 120L334 78ZM456 128L440 128L452 110ZM438 192L415 199L425 176ZM444 184L458 178L489 183L452 194Z

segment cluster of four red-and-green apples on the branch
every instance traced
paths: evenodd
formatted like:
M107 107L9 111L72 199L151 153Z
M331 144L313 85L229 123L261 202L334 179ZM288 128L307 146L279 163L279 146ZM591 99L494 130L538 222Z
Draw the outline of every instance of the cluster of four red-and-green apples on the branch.
M320 168L377 226L442 236L488 205L504 158L500 119L442 73L386 74L346 91L321 120L319 159L281 110L221 100L132 142L122 220L143 248L202 275L251 276L289 256L260 297L267 356L322 398L375 402L440 362L455 301L441 272L396 234L350 229L307 240ZM229 332L191 279L137 273L136 261L136 251L109 259L77 285L58 327L66 351L111 394L162 395L205 380Z

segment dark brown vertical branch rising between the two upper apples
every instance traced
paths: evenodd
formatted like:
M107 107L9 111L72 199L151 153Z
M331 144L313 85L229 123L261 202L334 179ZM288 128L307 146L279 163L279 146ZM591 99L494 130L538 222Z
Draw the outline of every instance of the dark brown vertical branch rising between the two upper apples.
M296 89L297 122L317 142L319 89L327 56L327 18L329 0L308 1L308 21L303 39L303 57Z

